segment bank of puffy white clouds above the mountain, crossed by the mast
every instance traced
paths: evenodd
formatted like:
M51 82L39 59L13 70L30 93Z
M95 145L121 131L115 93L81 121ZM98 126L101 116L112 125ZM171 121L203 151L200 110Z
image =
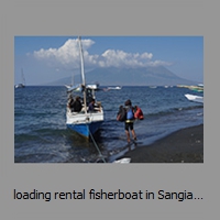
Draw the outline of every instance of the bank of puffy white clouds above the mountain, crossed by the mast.
M101 55L90 55L88 50L95 44L91 40L81 40L84 48L85 65L95 67L146 67L157 65L172 65L163 61L152 61L152 53L132 54L118 50L107 50ZM34 57L45 61L50 66L56 68L73 69L79 67L78 40L69 38L59 48L41 48L34 52Z

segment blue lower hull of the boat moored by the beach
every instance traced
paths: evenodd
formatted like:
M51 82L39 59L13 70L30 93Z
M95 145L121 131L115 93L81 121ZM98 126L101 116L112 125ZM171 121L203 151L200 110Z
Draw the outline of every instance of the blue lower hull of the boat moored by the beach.
M92 123L86 123L86 124L66 124L68 129L77 132L78 134L89 138L89 134L95 134L100 125L101 125L102 121L97 121L97 122L92 122Z

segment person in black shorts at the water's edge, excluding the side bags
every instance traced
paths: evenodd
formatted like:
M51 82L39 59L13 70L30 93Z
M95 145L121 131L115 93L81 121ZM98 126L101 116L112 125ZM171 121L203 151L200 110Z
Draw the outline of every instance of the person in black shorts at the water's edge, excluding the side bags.
M134 141L136 141L136 134L134 131L134 108L132 107L132 102L128 99L124 103L127 110L127 120L124 121L124 130L127 134L128 143L131 142L130 131Z

